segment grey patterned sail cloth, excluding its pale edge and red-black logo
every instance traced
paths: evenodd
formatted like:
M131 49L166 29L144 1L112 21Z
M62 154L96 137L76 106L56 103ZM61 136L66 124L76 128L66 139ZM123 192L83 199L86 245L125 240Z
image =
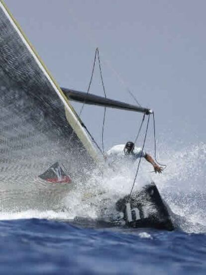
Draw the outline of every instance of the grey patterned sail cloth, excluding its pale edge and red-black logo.
M9 192L35 193L47 186L38 176L57 161L64 165L73 182L84 175L84 168L94 163L86 149L88 145L81 141L84 138L80 140L73 131L77 123L72 128L68 122L71 114L67 113L66 117L58 88L19 33L0 1L0 193L3 199Z

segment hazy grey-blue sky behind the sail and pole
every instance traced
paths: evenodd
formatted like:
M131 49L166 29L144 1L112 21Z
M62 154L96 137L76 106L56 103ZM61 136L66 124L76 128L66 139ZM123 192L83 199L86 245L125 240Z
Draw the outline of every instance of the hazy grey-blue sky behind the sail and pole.
M205 0L5 2L60 86L86 91L99 47L108 97L134 103L129 87L155 111L163 143L206 142ZM98 67L91 92L103 95ZM100 142L103 108L82 118ZM105 147L133 139L141 118L108 110Z

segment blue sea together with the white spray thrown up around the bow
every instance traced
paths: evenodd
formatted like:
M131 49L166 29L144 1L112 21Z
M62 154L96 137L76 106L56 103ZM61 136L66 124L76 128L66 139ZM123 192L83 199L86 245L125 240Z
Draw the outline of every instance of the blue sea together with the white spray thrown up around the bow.
M162 159L163 175L143 163L135 188L155 181L179 215L175 231L97 225L102 200L113 210L135 169L95 174L59 208L1 210L0 274L206 274L206 145L167 151Z

